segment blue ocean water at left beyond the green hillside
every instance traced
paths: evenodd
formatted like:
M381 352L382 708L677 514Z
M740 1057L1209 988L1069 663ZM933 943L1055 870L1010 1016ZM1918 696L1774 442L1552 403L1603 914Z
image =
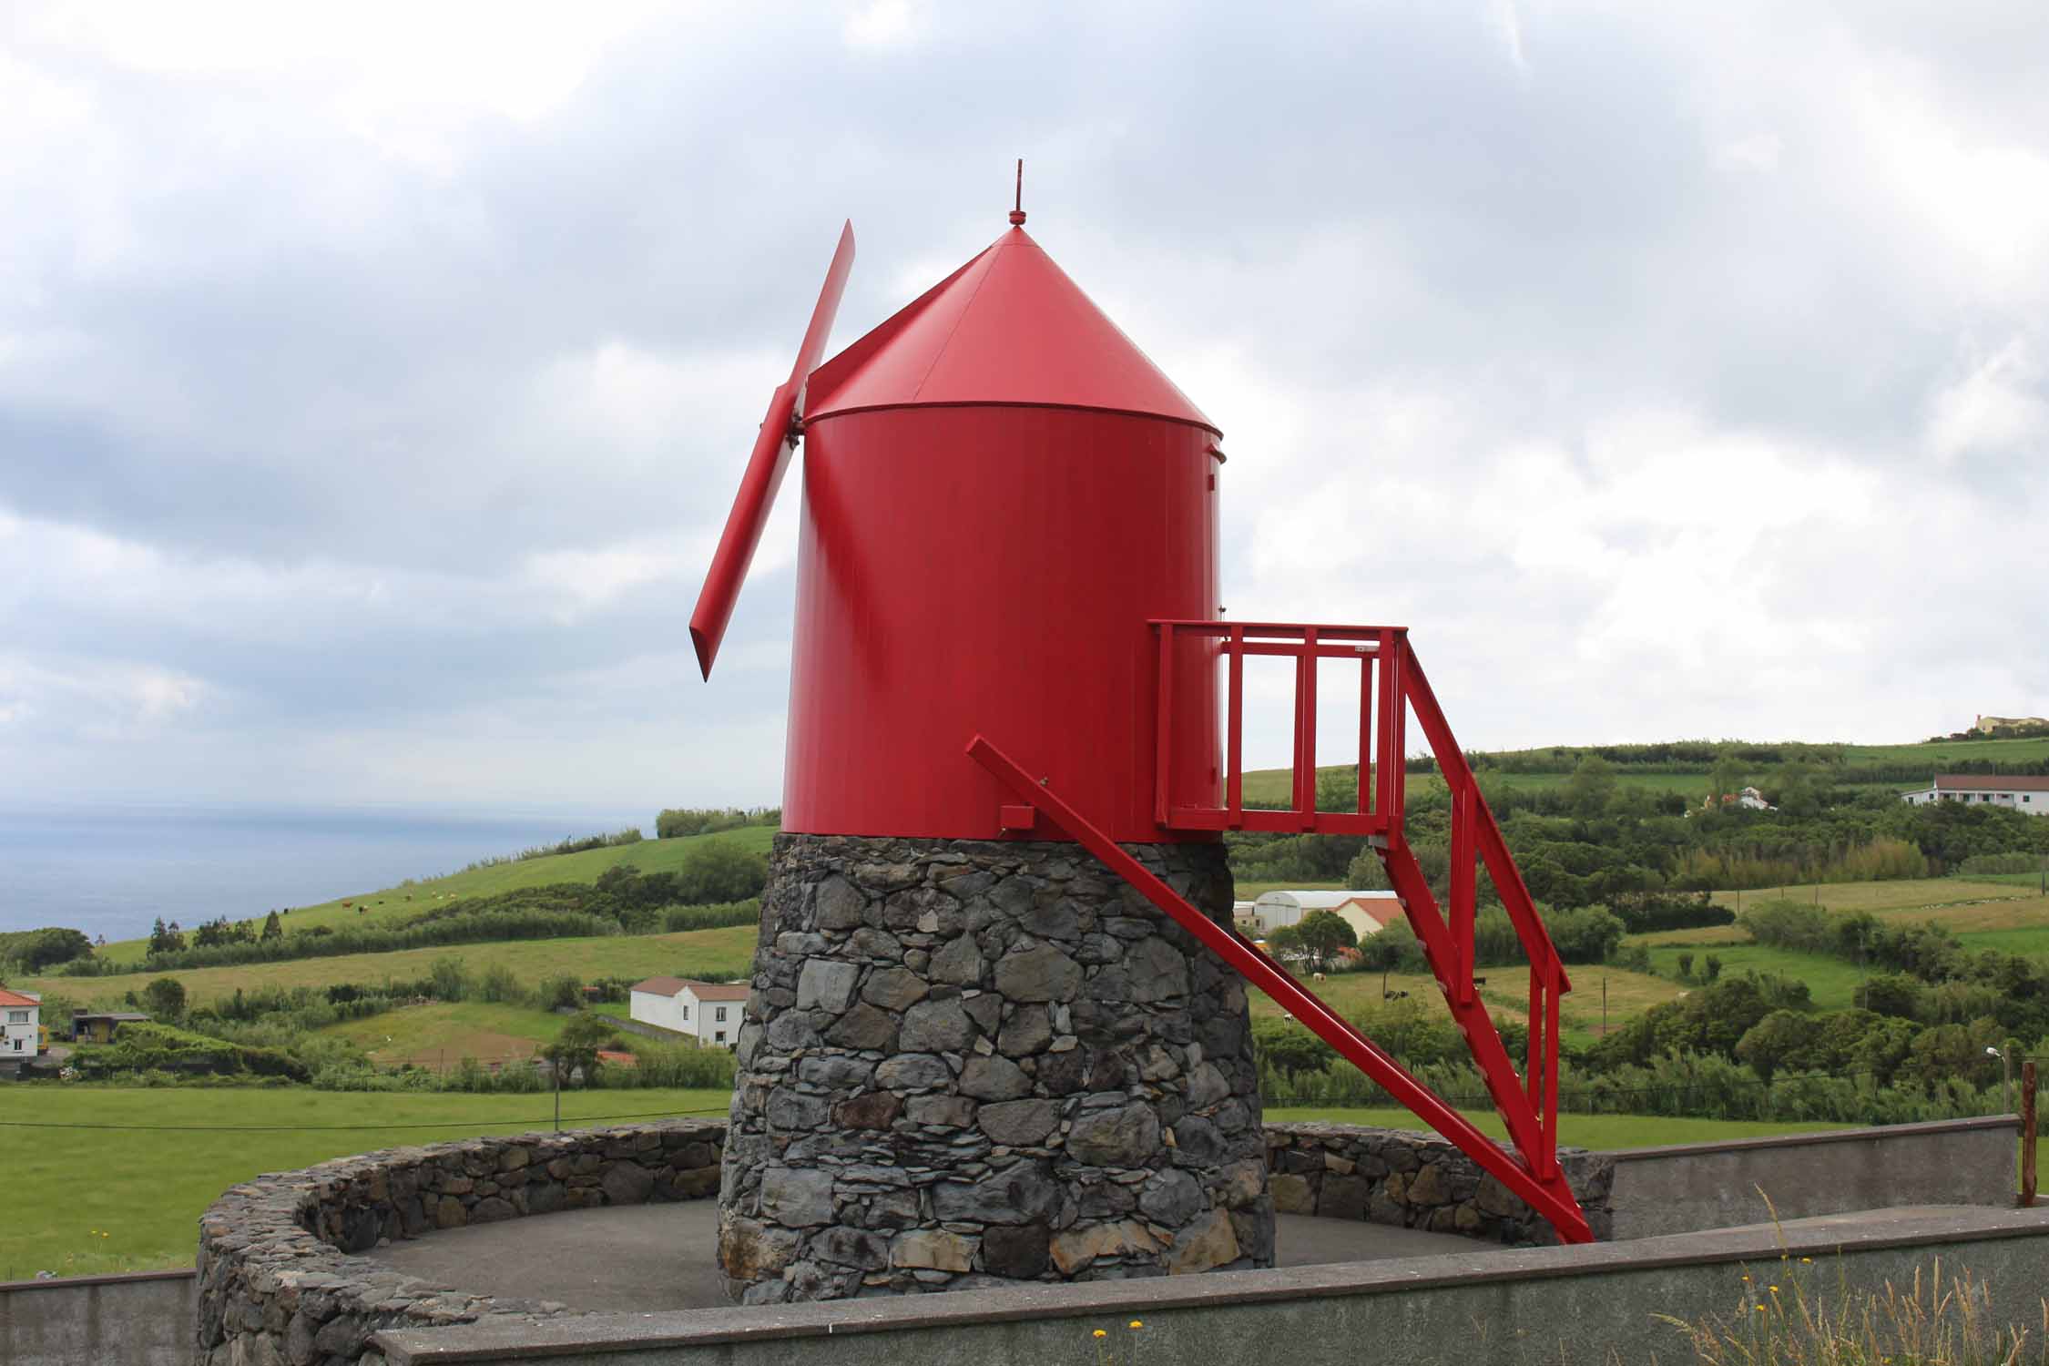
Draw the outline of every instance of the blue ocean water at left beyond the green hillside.
M654 836L652 813L0 807L0 930L125 940L158 915L244 920L625 825Z

